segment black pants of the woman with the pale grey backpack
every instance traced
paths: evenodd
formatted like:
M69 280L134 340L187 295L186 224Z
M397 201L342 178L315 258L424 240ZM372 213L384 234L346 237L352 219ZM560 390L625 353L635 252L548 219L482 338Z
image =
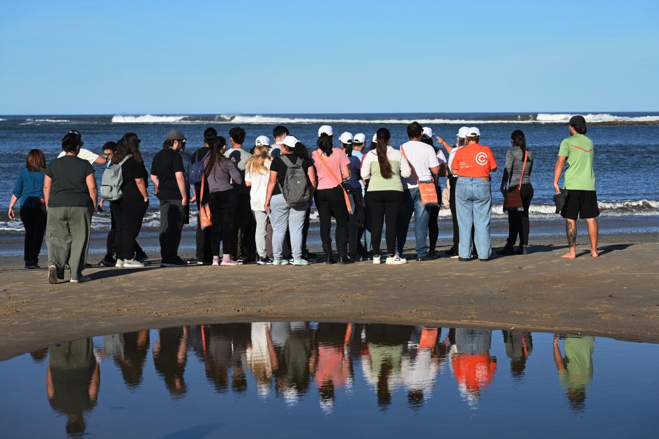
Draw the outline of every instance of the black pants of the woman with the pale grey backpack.
M114 252L117 259L132 259L135 258L136 253L140 253L135 242L139 230L142 229L142 221L144 221L147 207L149 204L141 198L138 200L121 198L121 200L112 202L111 214L114 216L116 224Z

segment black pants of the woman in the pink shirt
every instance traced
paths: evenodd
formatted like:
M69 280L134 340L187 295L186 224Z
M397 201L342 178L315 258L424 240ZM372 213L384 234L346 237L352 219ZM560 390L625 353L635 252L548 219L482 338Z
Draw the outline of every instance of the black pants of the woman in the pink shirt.
M348 251L348 208L345 204L343 190L339 186L320 189L315 194L316 208L320 221L320 239L327 253L332 248L332 217L336 220L336 249L339 255L346 256Z

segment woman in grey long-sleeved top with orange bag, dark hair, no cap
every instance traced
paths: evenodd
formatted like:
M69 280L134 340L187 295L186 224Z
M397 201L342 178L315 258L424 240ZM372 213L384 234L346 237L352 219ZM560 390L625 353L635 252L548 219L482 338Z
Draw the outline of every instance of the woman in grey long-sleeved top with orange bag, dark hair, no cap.
M531 186L531 172L533 171L533 152L527 149L527 140L521 130L513 131L510 135L512 148L506 152L506 168L501 177L501 193L506 197L506 186L520 186L523 210L508 210L508 240L506 246L497 252L499 255L513 255L513 246L520 237L520 247L517 248L518 255L527 254L529 246L529 207L533 199L533 186ZM524 174L522 175L522 172Z

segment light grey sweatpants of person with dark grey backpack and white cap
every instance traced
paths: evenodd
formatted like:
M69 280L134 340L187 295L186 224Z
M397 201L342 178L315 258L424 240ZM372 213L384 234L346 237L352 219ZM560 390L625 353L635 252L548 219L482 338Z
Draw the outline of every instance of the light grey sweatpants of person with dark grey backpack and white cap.
M302 258L302 228L308 206L289 206L284 195L275 195L270 199L270 222L272 223L272 253L275 259L282 258L282 247L286 239L286 230L291 235L291 253L293 259Z

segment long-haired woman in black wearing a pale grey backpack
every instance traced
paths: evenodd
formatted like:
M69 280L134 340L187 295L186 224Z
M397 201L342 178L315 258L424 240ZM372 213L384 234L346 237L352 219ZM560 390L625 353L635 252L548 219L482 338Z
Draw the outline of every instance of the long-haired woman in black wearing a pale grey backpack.
M121 163L121 161L124 161ZM149 194L146 187L149 174L146 172L142 154L139 152L139 139L137 134L128 133L121 137L117 149L112 154L112 163L121 166L123 182L121 184L121 198L112 202L112 212L116 222L115 252L118 268L144 267L137 260L141 257L135 246L139 230L142 229L144 214L149 208ZM142 251L144 252L144 251Z

